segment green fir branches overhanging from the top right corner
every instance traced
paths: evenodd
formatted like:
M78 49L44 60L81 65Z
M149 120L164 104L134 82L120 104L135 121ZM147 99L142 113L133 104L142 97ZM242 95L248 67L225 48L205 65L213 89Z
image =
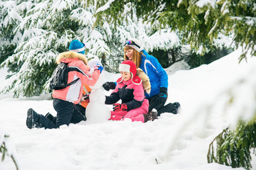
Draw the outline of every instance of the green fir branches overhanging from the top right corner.
M191 49L201 49L201 54L216 49L215 40L222 35L231 36L235 47L256 55L256 8L255 0L221 0L208 3L198 0L119 0L97 1L97 8L104 6L95 14L96 24L102 24L101 18L109 16L108 21L120 23L126 19L124 5L132 4L144 22L150 22L155 28L169 27L181 33L182 41L191 45Z

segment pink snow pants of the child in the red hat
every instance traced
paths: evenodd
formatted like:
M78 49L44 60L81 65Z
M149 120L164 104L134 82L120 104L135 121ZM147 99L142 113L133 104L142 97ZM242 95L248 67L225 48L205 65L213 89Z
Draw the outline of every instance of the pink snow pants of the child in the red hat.
M144 114L149 111L149 101L144 98L142 106L139 108L134 108L131 111L111 111L111 117L109 120L124 120L125 118L129 118L134 121L140 121L144 123Z

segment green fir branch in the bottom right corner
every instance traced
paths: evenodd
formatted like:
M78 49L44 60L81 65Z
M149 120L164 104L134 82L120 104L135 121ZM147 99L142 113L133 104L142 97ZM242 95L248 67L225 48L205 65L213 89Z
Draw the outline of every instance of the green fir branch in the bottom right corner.
M251 152L255 154L256 149L255 134L255 118L250 123L240 121L237 130L226 128L210 142L208 163L217 162L233 168L251 169Z

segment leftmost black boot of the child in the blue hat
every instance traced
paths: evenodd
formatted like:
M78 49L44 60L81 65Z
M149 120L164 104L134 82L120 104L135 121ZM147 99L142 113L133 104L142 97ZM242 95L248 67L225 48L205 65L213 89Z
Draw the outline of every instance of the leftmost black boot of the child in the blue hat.
M39 118L40 118L40 115L35 111L33 111L32 108L29 108L27 113L26 126L29 129L40 128L41 125L40 123L38 123Z

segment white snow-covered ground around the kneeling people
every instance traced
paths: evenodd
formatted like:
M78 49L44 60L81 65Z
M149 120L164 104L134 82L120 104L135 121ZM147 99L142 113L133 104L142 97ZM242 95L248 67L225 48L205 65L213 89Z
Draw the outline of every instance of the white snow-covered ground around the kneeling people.
M169 74L168 102L181 103L178 115L164 113L148 123L105 121L81 122L56 130L26 128L26 112L55 114L48 96L11 98L0 95L0 134L10 135L9 148L21 170L147 169L228 170L230 166L208 164L208 146L223 128L235 126L255 113L256 57L238 64L241 50L191 70L176 63ZM0 69L0 86L6 70ZM105 72L106 80L119 74ZM105 91L105 94L110 94ZM233 98L233 103L230 103ZM99 108L100 111L100 108ZM256 159L252 155L252 169ZM0 169L15 169L10 157ZM238 170L241 170L239 168Z

